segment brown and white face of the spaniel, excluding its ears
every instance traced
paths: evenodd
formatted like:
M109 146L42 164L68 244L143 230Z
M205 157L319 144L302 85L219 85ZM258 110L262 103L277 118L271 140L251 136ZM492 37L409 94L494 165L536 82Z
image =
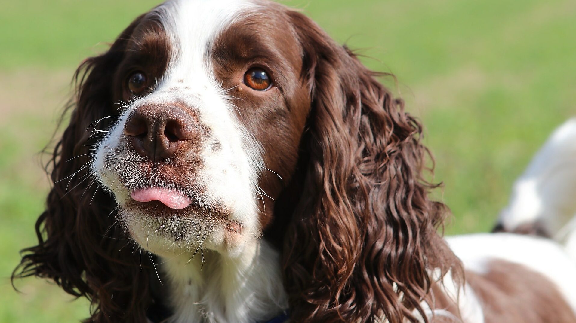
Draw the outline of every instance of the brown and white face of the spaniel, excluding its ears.
M146 249L237 253L271 222L311 106L291 20L270 4L179 1L128 32L118 120L92 168Z

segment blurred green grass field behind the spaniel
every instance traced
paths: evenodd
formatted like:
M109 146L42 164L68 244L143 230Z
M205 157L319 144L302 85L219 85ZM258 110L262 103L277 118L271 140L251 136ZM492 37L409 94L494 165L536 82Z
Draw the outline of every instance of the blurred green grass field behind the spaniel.
M151 0L3 1L0 10L0 322L73 322L88 302L37 279L16 282L18 250L47 180L48 143L75 67L104 51ZM390 71L426 127L448 233L489 230L510 185L552 129L576 108L574 0L303 0L340 43ZM392 83L392 86L393 83Z

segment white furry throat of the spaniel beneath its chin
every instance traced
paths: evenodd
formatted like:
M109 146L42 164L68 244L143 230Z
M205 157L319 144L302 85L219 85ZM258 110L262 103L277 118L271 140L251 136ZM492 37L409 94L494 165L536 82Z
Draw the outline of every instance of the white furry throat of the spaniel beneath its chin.
M266 241L237 257L193 248L162 260L171 323L267 322L288 307L279 254Z

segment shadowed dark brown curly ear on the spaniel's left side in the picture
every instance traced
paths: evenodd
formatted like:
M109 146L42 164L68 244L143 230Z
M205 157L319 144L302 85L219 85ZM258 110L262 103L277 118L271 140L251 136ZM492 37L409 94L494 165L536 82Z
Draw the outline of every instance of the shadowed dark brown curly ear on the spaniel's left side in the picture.
M147 257L141 264L116 226L115 202L98 189L91 173L93 146L118 113L113 76L134 21L101 56L86 59L75 73L77 93L67 111L70 123L47 165L53 186L36 222L38 245L22 250L13 279L40 276L69 294L92 301L90 322L145 322ZM68 113L65 113L68 116ZM66 116L63 119L66 119Z

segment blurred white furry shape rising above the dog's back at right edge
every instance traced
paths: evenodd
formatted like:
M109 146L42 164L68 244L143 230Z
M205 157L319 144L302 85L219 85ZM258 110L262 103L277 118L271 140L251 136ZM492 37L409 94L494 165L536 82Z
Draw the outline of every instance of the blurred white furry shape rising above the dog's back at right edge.
M494 231L543 235L576 254L576 118L556 129L512 189Z

